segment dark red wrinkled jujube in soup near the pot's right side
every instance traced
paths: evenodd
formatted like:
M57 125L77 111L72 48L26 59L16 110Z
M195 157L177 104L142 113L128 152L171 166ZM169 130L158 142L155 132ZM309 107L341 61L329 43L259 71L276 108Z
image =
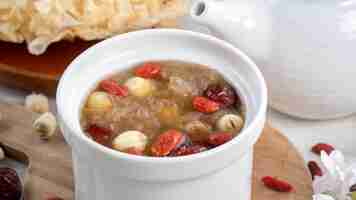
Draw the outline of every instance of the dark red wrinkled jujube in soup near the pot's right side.
M231 106L237 101L237 95L234 89L219 84L210 85L204 91L204 95L223 107Z

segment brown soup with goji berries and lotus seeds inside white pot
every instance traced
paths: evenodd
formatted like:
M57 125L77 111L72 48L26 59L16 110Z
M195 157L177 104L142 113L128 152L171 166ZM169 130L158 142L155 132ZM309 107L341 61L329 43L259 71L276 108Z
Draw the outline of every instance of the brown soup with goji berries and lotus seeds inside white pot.
M99 82L81 126L117 151L155 157L207 151L244 125L235 89L214 69L177 61L146 62Z

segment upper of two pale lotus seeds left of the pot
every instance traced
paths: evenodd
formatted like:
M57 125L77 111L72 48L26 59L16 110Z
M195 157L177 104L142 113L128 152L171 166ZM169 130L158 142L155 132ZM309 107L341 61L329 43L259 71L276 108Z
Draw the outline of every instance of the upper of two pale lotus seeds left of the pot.
M30 94L25 99L26 109L36 113L46 113L49 111L48 98L43 94Z

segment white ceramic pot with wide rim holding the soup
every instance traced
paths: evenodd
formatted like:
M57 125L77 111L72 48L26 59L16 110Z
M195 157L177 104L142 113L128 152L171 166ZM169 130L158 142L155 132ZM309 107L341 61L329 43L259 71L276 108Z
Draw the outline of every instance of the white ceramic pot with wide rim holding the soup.
M99 145L82 132L80 110L96 83L150 60L209 65L237 89L247 107L242 133L207 152L175 158L133 156ZM267 91L256 65L214 37L147 30L105 40L76 58L57 91L61 128L72 148L76 200L250 199L253 145L265 123Z

